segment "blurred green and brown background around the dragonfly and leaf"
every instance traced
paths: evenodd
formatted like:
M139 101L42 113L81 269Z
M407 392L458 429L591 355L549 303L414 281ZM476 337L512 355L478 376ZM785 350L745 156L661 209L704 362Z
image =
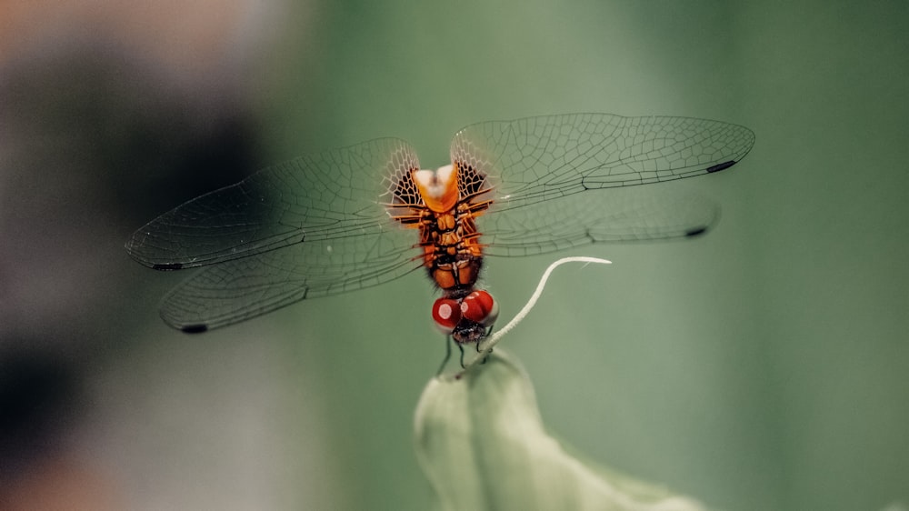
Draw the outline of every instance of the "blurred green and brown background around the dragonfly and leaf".
M490 119L747 125L694 242L592 246L505 344L555 435L745 509L909 502L909 4L0 2L0 507L425 509L419 274L185 336L123 243L295 155ZM514 315L552 256L490 260ZM902 502L903 505L895 504Z

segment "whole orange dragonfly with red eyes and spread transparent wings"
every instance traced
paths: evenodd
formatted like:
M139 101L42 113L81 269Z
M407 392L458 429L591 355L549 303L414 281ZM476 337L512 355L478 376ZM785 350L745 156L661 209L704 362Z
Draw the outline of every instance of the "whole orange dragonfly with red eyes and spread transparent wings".
M497 314L476 288L484 257L701 235L717 207L651 185L726 170L753 145L750 129L721 121L544 115L464 127L451 165L433 171L404 140L379 138L196 197L125 247L156 270L201 267L161 305L165 323L188 333L422 267L443 295L435 322L460 347Z

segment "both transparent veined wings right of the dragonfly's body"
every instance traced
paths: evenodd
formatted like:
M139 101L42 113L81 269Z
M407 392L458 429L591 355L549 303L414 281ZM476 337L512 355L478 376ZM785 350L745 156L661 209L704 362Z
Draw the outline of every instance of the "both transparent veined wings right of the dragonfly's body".
M703 233L713 204L634 185L724 170L752 145L751 130L719 121L576 114L470 125L451 154L495 187L478 220L486 254L531 255Z

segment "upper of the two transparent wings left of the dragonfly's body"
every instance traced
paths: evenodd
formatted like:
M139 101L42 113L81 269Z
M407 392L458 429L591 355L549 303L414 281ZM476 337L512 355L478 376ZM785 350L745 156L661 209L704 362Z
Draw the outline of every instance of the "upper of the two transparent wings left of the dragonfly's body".
M177 206L137 230L126 251L161 270L346 237L363 240L363 255L388 233L379 204L387 179L410 168L419 168L416 153L395 138L303 156Z

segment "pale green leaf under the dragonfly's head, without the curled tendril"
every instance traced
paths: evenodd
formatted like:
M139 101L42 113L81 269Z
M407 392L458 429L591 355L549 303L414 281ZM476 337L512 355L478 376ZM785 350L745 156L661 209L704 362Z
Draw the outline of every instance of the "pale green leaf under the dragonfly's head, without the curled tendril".
M442 509L704 509L569 454L501 349L475 369L434 378L416 408L417 457Z

